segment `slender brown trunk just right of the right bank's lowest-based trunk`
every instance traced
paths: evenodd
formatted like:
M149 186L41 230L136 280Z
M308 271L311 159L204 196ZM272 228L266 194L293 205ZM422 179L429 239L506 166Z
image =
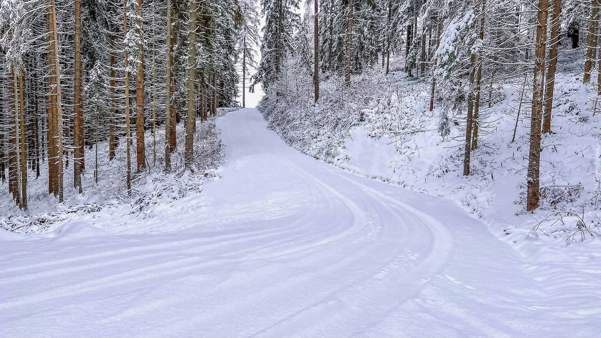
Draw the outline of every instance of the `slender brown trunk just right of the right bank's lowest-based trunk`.
M551 134L551 111L553 109L553 92L555 90L555 69L557 66L557 45L560 41L561 0L553 0L551 14L551 49L549 49L549 67L547 69L547 88L545 92L545 117L543 134ZM599 81L597 81L599 82ZM601 83L601 82L599 82Z

